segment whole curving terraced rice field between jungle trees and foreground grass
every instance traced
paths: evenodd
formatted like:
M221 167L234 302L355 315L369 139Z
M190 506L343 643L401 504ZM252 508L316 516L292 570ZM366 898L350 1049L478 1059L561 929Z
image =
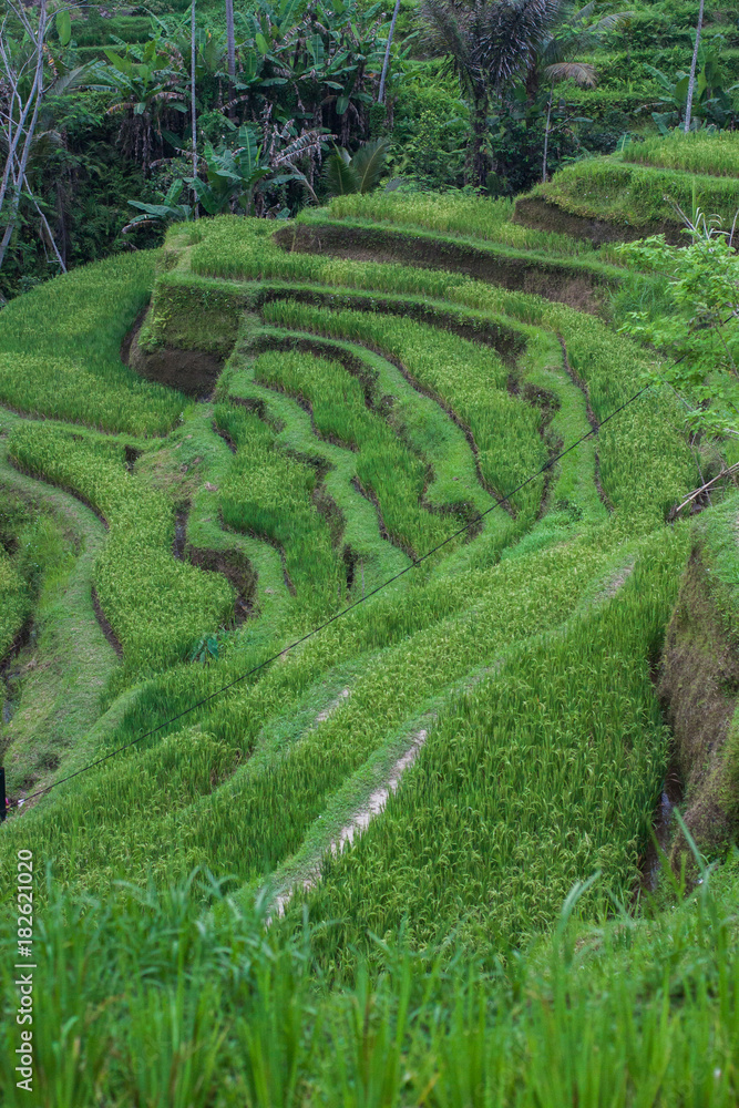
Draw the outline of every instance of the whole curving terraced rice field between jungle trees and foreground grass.
M244 903L266 884L280 926L304 899L341 921L324 940L338 964L403 920L414 944L454 927L506 948L596 869L589 912L630 895L666 765L650 660L687 552L664 520L697 483L655 389L547 465L644 383L645 352L598 317L604 263L577 269L560 244L536 296L520 244L473 276L463 240L449 248L464 212L437 240L383 204L362 213L372 248L348 204L292 239L222 217L0 317L0 476L97 516L90 664L117 652L83 730L44 717L45 769L24 756L41 725L21 686L9 791L157 728L31 804L0 852L32 845L80 892L197 864L234 875ZM563 302L575 279L586 310ZM117 351L152 288L137 372ZM223 358L226 339L199 399L156 381L178 350ZM29 617L16 562L9 543L6 650ZM63 607L69 575L57 587ZM346 842L399 759L387 807Z

